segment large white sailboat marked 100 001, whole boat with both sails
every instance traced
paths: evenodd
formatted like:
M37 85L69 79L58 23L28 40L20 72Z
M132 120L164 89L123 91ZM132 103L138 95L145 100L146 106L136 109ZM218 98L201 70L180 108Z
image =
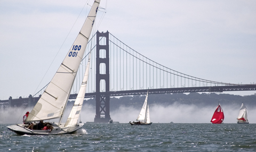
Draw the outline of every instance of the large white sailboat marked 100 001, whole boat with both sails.
M81 31L79 32L74 44L68 51L67 56L61 63L58 71L55 73L51 82L39 98L37 104L29 113L27 119L22 124L15 124L7 126L11 131L17 134L31 134L31 135L49 135L49 134L67 134L74 133L76 130L82 128L83 123L78 123L78 117L81 113L83 105L87 79L89 76L90 54L87 63L85 75L81 88L79 89L74 106L65 123L61 123L63 113L65 111L71 88L73 86L78 67L82 61L87 42L91 35L94 20L97 15L100 0L95 0L89 15L87 16ZM52 131L37 129L38 121L59 119L58 123L49 122L52 126ZM33 123L33 129L28 129L27 123Z

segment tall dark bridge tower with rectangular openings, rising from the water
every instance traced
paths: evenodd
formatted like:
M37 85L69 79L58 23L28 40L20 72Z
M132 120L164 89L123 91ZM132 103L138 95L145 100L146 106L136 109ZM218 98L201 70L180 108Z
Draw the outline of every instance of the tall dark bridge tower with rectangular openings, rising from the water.
M100 90L109 92L109 32L97 31L96 45L96 115L94 122L107 123L110 120L109 95L101 95ZM101 44L100 44L101 41ZM103 44L102 44L103 42ZM105 54L106 56L100 56ZM105 71L100 71L100 67L105 67ZM105 83L105 85L101 85ZM105 88L102 88L104 86Z

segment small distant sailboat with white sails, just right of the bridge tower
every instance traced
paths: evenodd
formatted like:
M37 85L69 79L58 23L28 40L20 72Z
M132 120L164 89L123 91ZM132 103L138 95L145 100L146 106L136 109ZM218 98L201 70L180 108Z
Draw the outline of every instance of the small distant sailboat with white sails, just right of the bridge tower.
M140 114L138 115L138 118L136 120L137 122L129 122L131 125L150 125L152 122L150 122L149 117L149 107L148 107L148 92L144 101L144 104L141 108Z

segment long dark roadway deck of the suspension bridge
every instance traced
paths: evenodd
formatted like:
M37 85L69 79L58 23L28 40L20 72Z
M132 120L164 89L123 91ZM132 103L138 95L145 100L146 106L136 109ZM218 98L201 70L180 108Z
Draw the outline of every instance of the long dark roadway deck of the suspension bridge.
M223 92L223 91L253 91L256 90L256 85L238 85L238 86L214 86L214 87L184 87L184 88L163 88L149 89L148 94L170 94L170 93L189 93L189 92ZM96 92L85 94L85 98L94 98ZM101 96L132 96L146 95L147 89L143 90L127 90L127 91L109 91L100 92ZM71 94L69 99L75 99L77 94Z

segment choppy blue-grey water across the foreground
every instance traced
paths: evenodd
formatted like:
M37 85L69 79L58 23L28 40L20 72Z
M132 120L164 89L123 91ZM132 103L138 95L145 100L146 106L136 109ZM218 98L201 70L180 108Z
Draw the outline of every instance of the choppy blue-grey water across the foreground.
M7 125L0 151L256 151L256 124L86 123L60 136L18 136Z

